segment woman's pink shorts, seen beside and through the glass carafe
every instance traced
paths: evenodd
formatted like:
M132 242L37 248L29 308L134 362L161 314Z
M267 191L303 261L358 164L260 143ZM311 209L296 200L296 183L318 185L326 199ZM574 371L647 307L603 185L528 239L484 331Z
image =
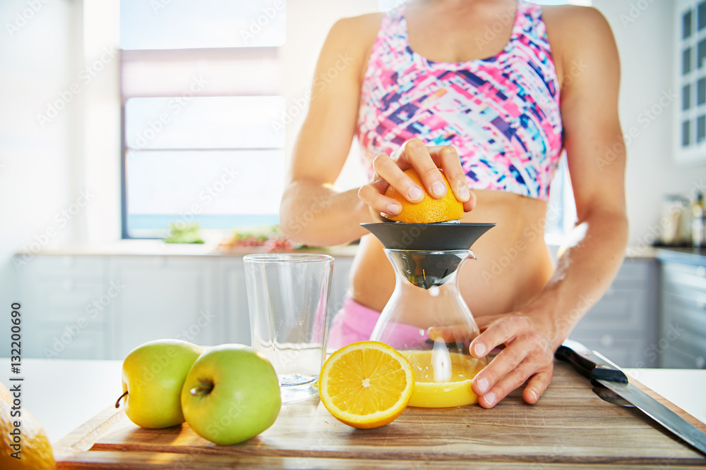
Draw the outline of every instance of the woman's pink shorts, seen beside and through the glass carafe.
M337 350L352 342L369 340L379 318L379 311L364 307L352 298L346 297L343 307L333 317L328 329L327 349ZM419 328L395 324L395 339L401 340L402 343L411 345L412 342L424 341L426 338L429 338L426 333L423 338L420 338Z

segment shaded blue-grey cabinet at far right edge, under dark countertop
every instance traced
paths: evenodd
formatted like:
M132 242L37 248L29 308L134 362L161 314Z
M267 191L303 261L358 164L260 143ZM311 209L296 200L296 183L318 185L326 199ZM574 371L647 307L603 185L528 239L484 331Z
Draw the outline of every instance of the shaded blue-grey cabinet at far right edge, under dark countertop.
M659 366L706 369L706 258L662 259Z

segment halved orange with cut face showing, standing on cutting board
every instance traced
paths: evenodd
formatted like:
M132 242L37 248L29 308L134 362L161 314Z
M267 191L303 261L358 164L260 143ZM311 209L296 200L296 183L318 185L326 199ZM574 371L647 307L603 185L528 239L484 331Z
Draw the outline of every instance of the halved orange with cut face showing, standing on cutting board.
M336 419L354 428L395 421L414 392L407 358L378 341L360 341L329 357L318 378L318 395Z

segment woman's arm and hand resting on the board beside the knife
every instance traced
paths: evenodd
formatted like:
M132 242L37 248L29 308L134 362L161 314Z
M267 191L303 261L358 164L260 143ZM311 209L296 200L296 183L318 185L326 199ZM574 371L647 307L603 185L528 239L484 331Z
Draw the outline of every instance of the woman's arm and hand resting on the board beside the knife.
M627 243L615 41L593 8L556 8L545 18L552 16L556 29L549 38L561 42L563 53L561 115L578 224L554 276L532 302L521 311L478 319L486 329L472 342L474 356L505 345L474 379L483 407L493 407L527 379L522 397L539 400L551 382L556 348L607 290Z

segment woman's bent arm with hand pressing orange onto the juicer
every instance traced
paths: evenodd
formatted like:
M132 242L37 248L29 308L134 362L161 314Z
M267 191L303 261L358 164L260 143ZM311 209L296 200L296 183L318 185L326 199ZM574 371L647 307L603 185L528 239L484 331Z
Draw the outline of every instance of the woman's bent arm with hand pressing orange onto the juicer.
M388 185L409 202L421 202L423 188L403 173L407 168L417 169L430 194L443 197L446 187L438 171L442 168L465 211L475 204L456 150L426 147L419 139L405 142L390 156L376 156L376 178L369 184L345 192L333 187L356 129L361 80L380 18L371 14L339 20L321 50L309 113L294 146L280 205L282 231L296 242L323 246L352 242L368 233L360 223L378 222L381 212L399 214L399 202L383 195Z

